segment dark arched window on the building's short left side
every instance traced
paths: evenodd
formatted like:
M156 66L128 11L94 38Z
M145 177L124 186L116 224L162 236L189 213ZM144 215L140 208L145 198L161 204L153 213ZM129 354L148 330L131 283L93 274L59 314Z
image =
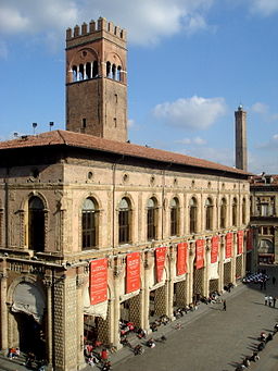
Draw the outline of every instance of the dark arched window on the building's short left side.
M45 250L45 207L39 197L28 201L28 247L35 251Z

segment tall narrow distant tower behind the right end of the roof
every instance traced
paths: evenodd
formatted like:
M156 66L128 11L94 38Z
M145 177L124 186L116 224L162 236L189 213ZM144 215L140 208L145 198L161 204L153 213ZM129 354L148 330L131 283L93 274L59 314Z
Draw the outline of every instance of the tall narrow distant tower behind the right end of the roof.
M236 168L248 170L247 112L240 104L236 116Z

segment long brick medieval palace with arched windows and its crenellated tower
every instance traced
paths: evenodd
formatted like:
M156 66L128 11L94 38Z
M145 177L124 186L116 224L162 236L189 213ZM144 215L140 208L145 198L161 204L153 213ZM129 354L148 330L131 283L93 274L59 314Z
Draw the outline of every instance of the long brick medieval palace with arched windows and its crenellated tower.
M251 264L245 170L127 143L126 33L66 33L66 131L0 143L0 344L85 366L236 284Z

